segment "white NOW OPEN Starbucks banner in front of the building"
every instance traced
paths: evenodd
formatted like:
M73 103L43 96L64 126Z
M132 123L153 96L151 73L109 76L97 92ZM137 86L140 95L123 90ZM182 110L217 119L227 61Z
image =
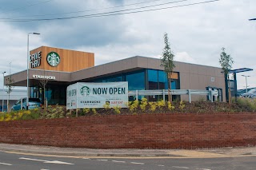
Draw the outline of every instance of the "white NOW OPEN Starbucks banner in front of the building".
M127 108L128 82L83 83L69 85L66 89L66 109L77 108Z

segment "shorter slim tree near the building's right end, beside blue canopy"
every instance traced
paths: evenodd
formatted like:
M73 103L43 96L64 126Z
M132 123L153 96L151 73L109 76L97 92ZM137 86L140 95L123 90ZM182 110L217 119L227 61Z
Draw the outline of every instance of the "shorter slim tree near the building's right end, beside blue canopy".
M222 71L224 73L224 77L228 79L229 82L229 104L231 104L231 91L230 91L230 77L229 77L229 71L232 69L232 65L234 63L233 58L230 56L230 54L227 54L225 52L225 48L222 47L222 52L220 53L220 58L218 60L219 64L222 67Z

